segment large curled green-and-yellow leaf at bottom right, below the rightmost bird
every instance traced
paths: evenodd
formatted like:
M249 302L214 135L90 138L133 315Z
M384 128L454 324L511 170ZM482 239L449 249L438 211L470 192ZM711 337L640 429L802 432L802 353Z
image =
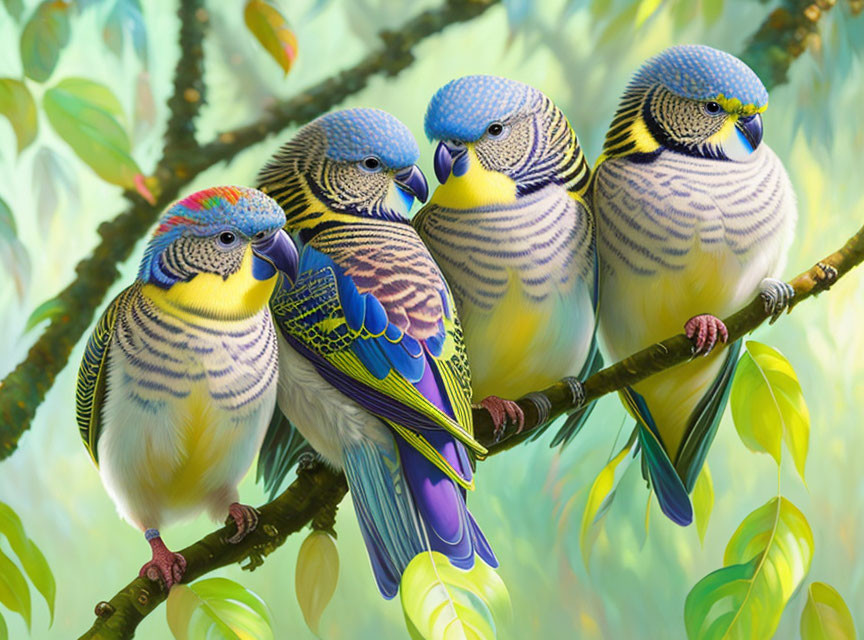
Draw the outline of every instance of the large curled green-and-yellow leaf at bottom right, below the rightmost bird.
M783 497L768 501L748 515L729 540L725 566L687 595L687 637L772 637L812 559L813 533L804 515Z

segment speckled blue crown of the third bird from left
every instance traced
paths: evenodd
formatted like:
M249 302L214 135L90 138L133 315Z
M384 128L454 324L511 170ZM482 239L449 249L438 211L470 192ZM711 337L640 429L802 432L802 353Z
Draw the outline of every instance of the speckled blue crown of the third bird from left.
M465 76L441 87L426 109L430 140L474 142L491 122L504 120L527 107L539 92L498 76Z

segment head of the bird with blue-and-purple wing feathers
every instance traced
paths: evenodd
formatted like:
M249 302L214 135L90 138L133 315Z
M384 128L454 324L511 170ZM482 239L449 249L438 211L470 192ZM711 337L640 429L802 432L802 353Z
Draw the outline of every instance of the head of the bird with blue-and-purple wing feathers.
M343 109L300 129L258 183L285 208L292 230L313 228L334 213L401 221L415 198L424 202L428 195L419 157L411 131L394 116Z

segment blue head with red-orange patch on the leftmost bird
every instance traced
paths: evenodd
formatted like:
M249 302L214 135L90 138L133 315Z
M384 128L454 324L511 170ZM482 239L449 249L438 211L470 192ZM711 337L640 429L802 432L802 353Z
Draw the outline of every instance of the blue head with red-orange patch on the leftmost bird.
M247 258L256 280L272 278L274 266L291 275L297 251L280 231L284 224L282 208L256 189L213 187L193 193L159 219L138 279L163 289L200 274L227 280Z

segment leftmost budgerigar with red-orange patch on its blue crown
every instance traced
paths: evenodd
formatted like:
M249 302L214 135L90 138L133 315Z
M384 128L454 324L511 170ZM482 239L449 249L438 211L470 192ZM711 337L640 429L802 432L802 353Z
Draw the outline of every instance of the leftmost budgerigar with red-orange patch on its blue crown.
M255 189L215 187L171 206L138 278L108 306L78 373L76 417L120 514L144 531L141 575L166 588L186 567L159 529L202 510L237 525L238 503L276 402L276 333L267 302L273 260L290 272L296 249L282 209Z

